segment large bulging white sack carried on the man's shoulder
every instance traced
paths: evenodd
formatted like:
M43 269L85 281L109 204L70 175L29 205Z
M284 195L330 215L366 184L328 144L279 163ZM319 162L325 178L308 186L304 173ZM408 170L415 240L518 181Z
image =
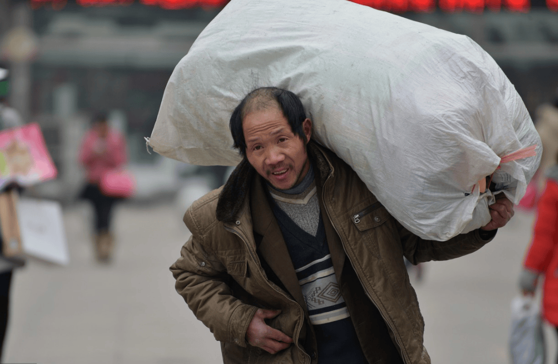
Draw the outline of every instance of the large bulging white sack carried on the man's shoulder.
M477 43L345 0L232 0L176 66L149 144L191 164L238 163L229 117L256 86L299 95L314 138L427 239L487 224L493 197L477 181L501 157L537 145L494 174L514 203L540 161L525 105Z

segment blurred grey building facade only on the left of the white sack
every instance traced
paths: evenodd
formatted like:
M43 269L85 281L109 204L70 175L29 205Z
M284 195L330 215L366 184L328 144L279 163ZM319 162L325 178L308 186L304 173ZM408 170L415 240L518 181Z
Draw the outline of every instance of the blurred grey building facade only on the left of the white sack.
M30 60L10 66L27 67L28 76L18 80L28 84L28 104L20 108L26 109L27 122L41 125L59 168L56 181L37 186L42 195L75 200L83 183L76 161L81 137L92 115L101 110L126 134L129 169L138 179L140 198L176 192L181 175L197 171L148 153L144 137L151 135L174 66L218 9L171 11L139 3L84 7L75 2L33 9L28 2L0 3L6 10L0 12L11 13L12 23L18 9L26 8L37 39ZM2 29L4 37L10 30ZM12 77L14 84L18 80ZM20 98L12 94L12 104L17 107Z

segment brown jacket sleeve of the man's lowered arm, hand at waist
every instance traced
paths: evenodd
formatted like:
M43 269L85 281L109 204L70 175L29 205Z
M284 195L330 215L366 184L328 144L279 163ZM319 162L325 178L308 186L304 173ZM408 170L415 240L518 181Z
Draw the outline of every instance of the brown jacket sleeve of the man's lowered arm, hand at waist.
M180 258L170 267L176 279L176 291L215 339L246 347L246 330L257 307L233 296L228 285L231 278L222 261L204 244L208 236L199 234L190 210L184 221L192 236L182 247Z

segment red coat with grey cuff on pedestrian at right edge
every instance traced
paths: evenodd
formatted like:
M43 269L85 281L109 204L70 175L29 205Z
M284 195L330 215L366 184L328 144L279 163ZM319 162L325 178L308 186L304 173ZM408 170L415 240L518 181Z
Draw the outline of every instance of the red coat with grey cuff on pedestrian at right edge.
M546 186L537 204L533 236L519 275L519 289L534 296L543 276L542 316L558 332L558 156L547 169Z

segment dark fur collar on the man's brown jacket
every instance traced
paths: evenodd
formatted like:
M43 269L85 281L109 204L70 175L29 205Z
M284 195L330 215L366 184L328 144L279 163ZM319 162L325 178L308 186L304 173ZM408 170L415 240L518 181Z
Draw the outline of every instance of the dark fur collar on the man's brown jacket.
M328 176L331 164L329 162L328 150L320 147L314 140L310 139L307 145L308 156L314 165L316 177L319 178L316 183L323 183ZM331 152L330 152L331 153ZM234 222L238 210L242 203L248 198L252 179L259 177L256 169L243 158L242 162L230 174L227 183L223 186L223 190L219 194L217 202L217 220L224 222ZM260 177L261 178L261 177Z

